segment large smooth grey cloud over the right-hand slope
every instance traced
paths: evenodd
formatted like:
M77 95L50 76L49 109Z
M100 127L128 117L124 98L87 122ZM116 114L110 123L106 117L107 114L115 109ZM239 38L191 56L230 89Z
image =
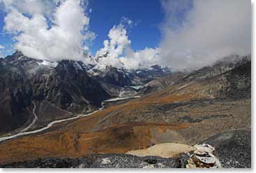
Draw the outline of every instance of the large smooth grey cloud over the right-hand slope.
M230 54L250 53L250 1L163 0L162 4L166 19L160 64L187 69Z

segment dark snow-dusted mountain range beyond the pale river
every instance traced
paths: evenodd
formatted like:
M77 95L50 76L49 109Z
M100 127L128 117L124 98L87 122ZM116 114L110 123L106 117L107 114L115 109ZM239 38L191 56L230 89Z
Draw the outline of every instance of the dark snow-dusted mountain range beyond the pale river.
M43 125L95 110L111 97L134 96L141 85L170 73L159 65L128 70L110 66L102 69L74 60L52 63L16 51L0 59L0 131L12 131L31 121L32 101L40 108Z

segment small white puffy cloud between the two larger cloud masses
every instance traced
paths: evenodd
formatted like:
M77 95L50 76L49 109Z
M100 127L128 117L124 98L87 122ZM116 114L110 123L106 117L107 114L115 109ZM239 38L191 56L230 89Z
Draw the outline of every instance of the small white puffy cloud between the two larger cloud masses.
M113 26L109 33L109 40L103 42L104 47L96 52L96 58L100 57L98 65L111 65L126 69L147 68L158 63L159 49L145 48L133 51L128 38L127 28L133 26L133 22L122 17L117 26ZM104 56L105 55L105 56Z

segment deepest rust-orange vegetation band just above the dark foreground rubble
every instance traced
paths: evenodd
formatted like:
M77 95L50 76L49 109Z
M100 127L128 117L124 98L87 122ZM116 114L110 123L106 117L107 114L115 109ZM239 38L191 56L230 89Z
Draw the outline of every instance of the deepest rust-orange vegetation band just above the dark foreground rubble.
M0 163L33 160L38 157L78 157L93 153L124 153L153 145L151 129L160 131L188 128L183 124L118 124L91 133L52 131L3 142Z

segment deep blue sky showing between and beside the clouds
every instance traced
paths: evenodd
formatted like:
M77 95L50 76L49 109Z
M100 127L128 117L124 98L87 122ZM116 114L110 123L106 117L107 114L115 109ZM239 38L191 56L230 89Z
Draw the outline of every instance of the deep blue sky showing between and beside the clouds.
M89 1L88 13L90 18L89 29L96 33L96 39L93 41L90 49L94 54L103 47L103 40L107 39L107 33L114 25L118 25L121 17L127 17L134 22L132 28L128 28L128 37L132 40L130 45L133 50L141 50L145 47L157 47L160 42L159 26L164 19L164 11L161 7L160 0L130 0L130 1ZM10 44L13 44L11 36L3 31L3 18L6 13L0 11L0 45L6 47L1 49L1 54L7 56ZM14 51L14 50L13 50Z

